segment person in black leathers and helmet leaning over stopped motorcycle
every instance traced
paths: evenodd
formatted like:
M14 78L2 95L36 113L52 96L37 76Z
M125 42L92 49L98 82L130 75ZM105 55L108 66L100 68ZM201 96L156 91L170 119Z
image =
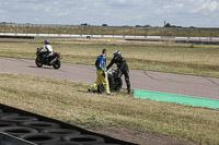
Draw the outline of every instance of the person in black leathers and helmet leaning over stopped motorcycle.
M126 63L126 60L122 57L122 52L119 50L114 51L113 55L114 58L112 59L111 63L107 65L106 69L108 70L114 63L116 63L118 68L117 77L122 77L123 74L125 75L128 94L130 94L129 69Z

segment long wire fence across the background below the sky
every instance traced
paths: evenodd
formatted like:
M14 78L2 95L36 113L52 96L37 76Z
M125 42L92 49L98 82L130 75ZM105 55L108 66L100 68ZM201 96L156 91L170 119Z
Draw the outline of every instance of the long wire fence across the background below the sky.
M135 27L56 24L0 24L0 33L14 34L68 34L68 35L122 35L169 37L219 37L219 28L196 27Z

